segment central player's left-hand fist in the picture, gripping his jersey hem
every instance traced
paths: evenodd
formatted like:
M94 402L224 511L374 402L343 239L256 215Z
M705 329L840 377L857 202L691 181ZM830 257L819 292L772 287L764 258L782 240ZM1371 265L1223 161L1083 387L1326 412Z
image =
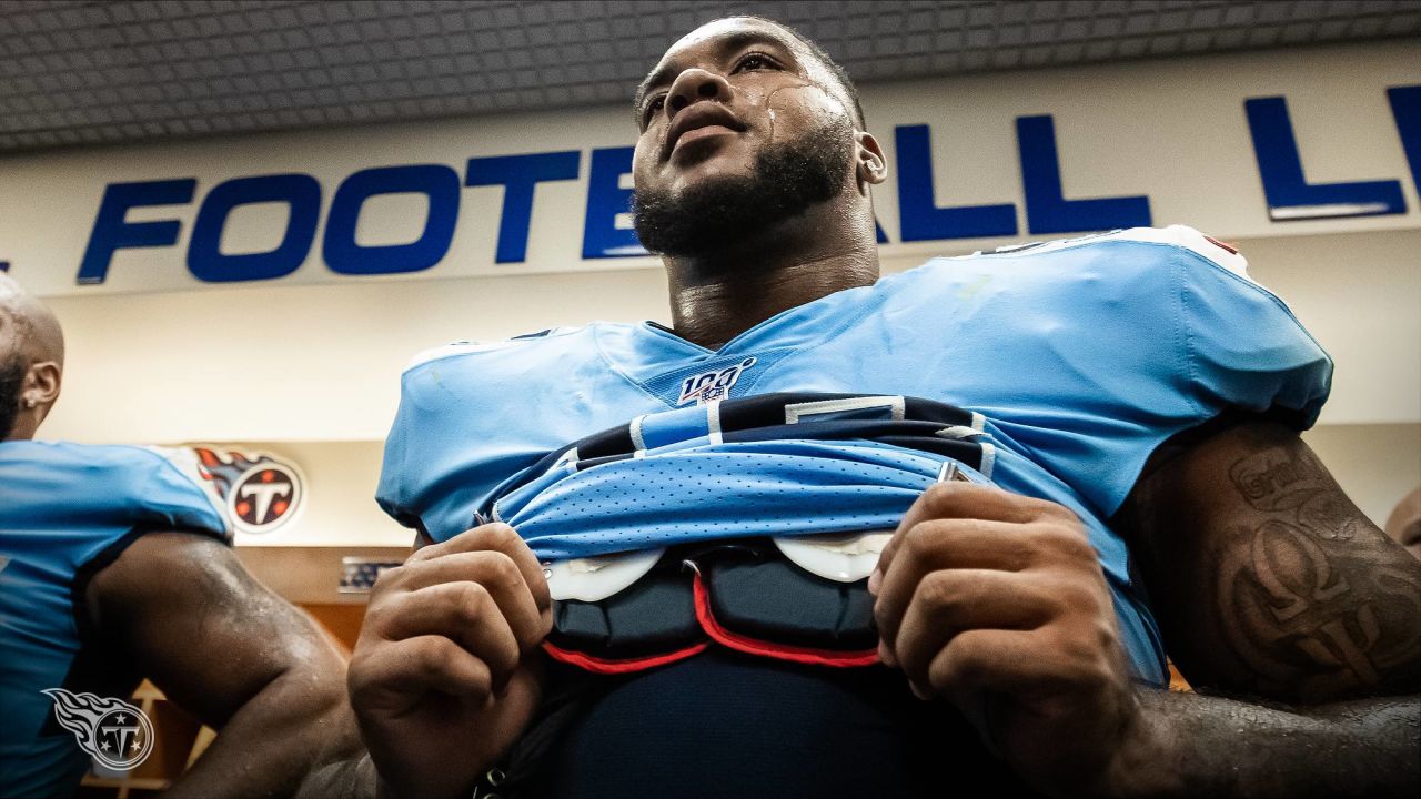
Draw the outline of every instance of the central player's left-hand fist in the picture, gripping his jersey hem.
M395 796L469 796L537 709L553 626L543 570L507 525L379 576L351 655L351 704Z

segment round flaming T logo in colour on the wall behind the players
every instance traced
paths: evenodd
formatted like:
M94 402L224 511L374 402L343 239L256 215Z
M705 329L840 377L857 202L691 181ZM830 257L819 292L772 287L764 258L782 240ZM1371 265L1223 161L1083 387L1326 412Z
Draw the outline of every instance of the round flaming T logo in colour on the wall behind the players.
M304 479L294 463L266 454L244 454L193 448L202 461L203 478L216 483L227 503L232 525L243 533L270 533L296 518L304 495Z

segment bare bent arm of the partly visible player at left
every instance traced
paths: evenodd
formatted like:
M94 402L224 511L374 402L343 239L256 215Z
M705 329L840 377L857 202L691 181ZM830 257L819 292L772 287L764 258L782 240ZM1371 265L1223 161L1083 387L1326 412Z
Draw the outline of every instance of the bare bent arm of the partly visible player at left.
M168 796L288 796L358 751L345 664L230 547L142 536L90 583L95 628L220 735Z

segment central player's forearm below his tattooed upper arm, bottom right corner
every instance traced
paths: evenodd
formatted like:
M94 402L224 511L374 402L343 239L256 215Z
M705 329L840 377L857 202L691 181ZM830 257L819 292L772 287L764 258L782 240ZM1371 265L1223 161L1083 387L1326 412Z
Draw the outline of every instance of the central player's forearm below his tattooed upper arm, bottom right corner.
M1138 746L1111 775L1120 796L1417 796L1421 699L1299 709L1137 691Z

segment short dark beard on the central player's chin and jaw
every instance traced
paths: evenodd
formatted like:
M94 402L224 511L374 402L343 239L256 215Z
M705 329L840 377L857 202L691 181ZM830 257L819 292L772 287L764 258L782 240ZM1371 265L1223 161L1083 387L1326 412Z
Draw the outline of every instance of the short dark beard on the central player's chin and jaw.
M665 191L632 196L632 223L641 246L668 256L725 249L828 202L844 191L853 163L853 127L837 118L755 156L755 172L715 178L672 198Z

